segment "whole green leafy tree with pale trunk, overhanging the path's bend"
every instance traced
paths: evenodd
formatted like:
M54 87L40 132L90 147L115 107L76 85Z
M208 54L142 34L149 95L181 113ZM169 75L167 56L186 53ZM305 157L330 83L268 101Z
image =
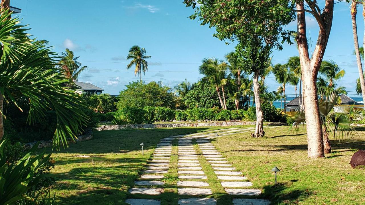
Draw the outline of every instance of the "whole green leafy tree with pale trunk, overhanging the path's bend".
M254 92L257 111L255 137L265 134L263 130L263 114L260 108L260 88L258 77L260 71L267 69L270 50L283 49L281 43L290 42L290 31L284 25L294 20L294 3L289 0L184 0L187 7L195 9L191 19L198 19L201 25L214 27L213 34L220 40L239 41L236 52L242 69L247 74L254 74ZM256 51L254 51L256 50ZM258 58L258 59L257 59ZM243 63L247 61L247 63ZM257 65L253 65L257 63Z

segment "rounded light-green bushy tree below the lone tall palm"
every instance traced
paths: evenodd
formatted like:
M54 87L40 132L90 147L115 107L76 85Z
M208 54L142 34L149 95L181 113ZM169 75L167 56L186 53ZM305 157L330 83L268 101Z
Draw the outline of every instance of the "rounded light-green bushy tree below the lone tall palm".
M124 107L143 108L146 106L176 107L176 97L168 86L162 86L161 82L149 82L141 84L139 82L130 82L126 89L120 91L118 109Z

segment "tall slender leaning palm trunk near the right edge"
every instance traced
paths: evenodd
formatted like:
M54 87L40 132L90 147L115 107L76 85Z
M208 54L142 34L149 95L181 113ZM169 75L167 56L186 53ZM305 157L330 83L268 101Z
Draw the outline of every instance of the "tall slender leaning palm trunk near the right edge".
M363 12L362 12L362 15L364 16L364 19L365 19L364 12L365 12L365 9L363 9ZM360 51L359 51L359 40L357 37L356 13L357 13L356 0L353 0L351 3L352 33L354 35L354 46L355 46L357 69L359 71L362 100L365 102L365 80L364 80L364 71L362 71L362 63L361 63L361 57L360 57ZM365 39L365 35L364 35L364 39ZM364 104L364 109L365 109L365 104Z

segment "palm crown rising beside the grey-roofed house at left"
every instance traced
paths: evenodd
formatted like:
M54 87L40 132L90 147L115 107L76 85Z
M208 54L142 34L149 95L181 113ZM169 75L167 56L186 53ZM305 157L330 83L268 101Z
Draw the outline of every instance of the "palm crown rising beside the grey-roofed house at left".
M80 75L82 71L88 69L88 66L81 67L81 63L77 61L80 57L75 57L73 51L70 51L69 49L62 52L61 56L62 58L59 61L59 64L62 69L62 73L71 81L77 82L78 75Z

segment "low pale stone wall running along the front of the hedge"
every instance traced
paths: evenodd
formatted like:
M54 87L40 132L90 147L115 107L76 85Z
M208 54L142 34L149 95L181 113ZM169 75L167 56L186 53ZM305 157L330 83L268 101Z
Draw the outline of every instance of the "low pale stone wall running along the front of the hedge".
M128 125L102 125L96 128L98 131L118 129L145 129L145 128L166 128L166 127L214 127L233 125L255 125L256 122L249 121L219 121L204 123L164 123L164 124L128 124Z

